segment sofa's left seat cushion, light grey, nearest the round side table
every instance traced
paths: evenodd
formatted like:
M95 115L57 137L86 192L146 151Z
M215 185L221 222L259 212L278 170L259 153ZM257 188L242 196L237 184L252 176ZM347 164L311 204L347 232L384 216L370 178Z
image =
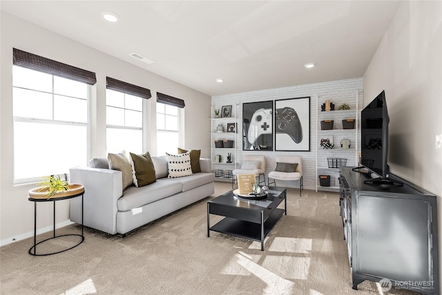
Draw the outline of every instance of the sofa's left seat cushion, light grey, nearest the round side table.
M167 179L167 178L163 178ZM122 198L117 200L118 211L127 211L142 207L145 204L173 196L182 191L181 182L164 182L157 180L145 187L128 187Z

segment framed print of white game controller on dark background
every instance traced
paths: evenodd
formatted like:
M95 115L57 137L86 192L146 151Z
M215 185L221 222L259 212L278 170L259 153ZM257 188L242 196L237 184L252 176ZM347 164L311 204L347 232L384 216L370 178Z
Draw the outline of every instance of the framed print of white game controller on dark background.
M273 101L242 104L242 150L273 151Z

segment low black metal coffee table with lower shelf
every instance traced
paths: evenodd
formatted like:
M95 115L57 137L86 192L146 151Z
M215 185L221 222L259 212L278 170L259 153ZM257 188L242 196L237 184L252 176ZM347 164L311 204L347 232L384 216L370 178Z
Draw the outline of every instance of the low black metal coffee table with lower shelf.
M284 200L284 209L277 208ZM282 187L269 187L267 199L245 200L233 195L233 190L207 202L207 236L218 231L249 240L261 242L269 234L282 214L287 215L287 191ZM210 227L210 214L224 216Z

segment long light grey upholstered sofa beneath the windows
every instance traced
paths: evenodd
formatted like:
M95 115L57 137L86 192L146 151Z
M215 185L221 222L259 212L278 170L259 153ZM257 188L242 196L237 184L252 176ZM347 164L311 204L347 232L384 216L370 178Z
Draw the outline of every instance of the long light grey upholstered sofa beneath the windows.
M157 181L122 189L122 172L108 169L106 158L70 169L70 182L84 185L84 225L126 235L146 223L211 196L215 175L211 160L200 159L201 173L167 178L166 156L152 157ZM70 220L81 223L81 198L70 200Z

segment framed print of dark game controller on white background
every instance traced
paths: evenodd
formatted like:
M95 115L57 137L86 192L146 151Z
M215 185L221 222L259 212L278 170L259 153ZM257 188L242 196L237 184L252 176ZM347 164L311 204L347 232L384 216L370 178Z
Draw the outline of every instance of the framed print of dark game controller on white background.
M310 97L275 100L275 151L310 151Z

